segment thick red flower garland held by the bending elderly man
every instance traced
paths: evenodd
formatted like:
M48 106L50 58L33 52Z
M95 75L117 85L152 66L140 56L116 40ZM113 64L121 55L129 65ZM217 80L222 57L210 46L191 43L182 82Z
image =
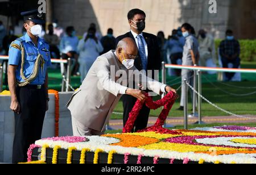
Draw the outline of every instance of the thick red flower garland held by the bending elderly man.
M148 97L148 94L146 94ZM158 119L156 120L156 123L154 126L148 127L144 130L138 131L138 132L148 132L148 131L155 131L161 134L180 134L177 131L171 131L163 128L163 124L167 119L167 115L169 114L172 106L174 105L176 99L176 94L173 91L170 91L166 96L164 96L163 99L160 99L158 101L153 102L151 97L148 97L146 99L146 106L150 109L158 109L161 106L164 106L162 112L158 116ZM134 122L137 119L137 116L139 114L139 111L142 109L143 106L142 101L137 100L135 103L133 110L131 110L129 114L129 118L125 124L125 127L123 128L123 133L131 132L131 130L134 127Z

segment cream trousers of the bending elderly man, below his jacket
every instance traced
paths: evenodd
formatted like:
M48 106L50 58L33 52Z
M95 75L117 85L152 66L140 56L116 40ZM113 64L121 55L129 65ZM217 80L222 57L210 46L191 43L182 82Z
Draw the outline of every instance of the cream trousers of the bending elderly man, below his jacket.
M91 128L85 127L84 124L80 123L77 119L72 116L72 128L73 136L92 136L92 135L102 135L104 132L96 131Z

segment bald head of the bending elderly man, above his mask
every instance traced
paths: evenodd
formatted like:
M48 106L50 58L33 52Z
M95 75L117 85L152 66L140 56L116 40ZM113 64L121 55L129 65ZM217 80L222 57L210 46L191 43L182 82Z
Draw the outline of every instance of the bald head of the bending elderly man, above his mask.
M117 55L121 55L122 52L124 52L128 56L129 55L137 56L138 48L133 39L124 38L118 42L116 52L117 52Z

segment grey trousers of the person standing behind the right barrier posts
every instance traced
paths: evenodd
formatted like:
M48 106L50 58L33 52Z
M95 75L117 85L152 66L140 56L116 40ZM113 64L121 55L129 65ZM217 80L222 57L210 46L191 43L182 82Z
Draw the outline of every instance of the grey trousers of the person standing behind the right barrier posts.
M187 79L187 82L193 87L193 71L182 69L181 70L181 97L180 97L180 106L184 106L184 99L185 99L185 93L188 93L184 91L184 79ZM195 75L196 76L196 75ZM188 89L191 92L191 98L193 99L193 90L188 87ZM196 101L197 103L197 101Z

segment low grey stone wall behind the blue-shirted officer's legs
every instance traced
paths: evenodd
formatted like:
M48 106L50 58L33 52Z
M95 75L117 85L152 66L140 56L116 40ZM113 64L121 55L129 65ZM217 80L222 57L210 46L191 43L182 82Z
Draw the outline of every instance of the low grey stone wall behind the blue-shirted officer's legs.
M71 114L65 104L73 93L60 93L59 135L71 136ZM55 98L49 94L49 110L44 119L42 138L55 135ZM11 163L14 139L14 114L10 110L10 96L0 95L0 163Z

